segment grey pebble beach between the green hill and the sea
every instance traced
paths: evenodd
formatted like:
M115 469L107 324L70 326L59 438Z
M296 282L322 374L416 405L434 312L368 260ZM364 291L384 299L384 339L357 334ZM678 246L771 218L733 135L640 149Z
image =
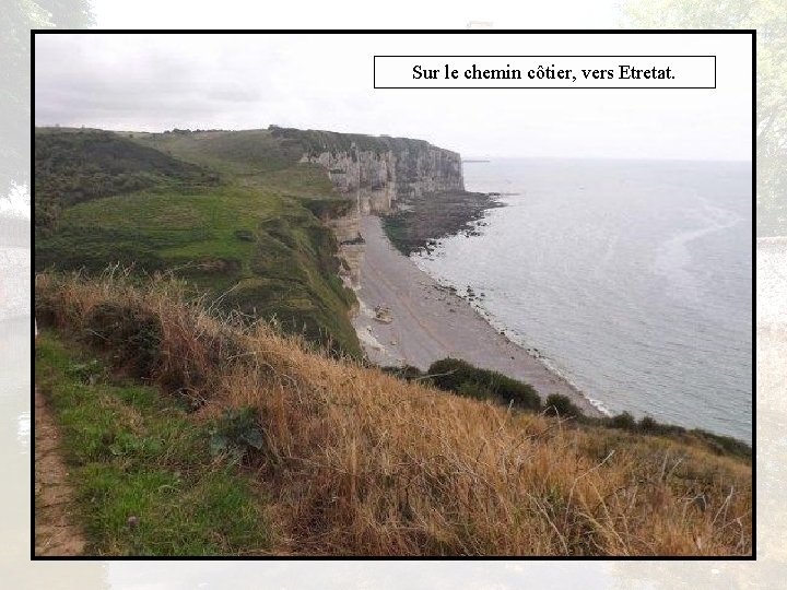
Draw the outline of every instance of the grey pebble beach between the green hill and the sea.
M362 216L361 235L366 251L355 292L359 310L352 323L371 362L425 370L441 358L461 358L531 385L542 400L561 393L587 416L606 415L542 359L497 331L468 300L399 252L379 217ZM375 318L377 307L387 310L390 321Z

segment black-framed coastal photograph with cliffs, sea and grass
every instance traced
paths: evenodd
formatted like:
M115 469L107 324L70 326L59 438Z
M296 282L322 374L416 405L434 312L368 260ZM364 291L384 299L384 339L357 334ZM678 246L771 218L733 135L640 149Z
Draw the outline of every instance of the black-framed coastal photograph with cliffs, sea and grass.
M34 32L33 558L753 559L753 39Z

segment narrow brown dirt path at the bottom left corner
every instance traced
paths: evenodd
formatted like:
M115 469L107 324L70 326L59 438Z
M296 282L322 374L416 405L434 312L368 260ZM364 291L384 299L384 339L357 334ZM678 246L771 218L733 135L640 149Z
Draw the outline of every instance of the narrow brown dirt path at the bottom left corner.
M80 555L85 540L73 523L73 489L60 437L44 397L35 392L35 554Z

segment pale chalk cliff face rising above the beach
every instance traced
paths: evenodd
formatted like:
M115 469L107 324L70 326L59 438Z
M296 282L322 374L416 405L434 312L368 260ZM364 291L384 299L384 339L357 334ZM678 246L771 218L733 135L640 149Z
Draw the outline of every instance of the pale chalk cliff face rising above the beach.
M351 284L357 283L363 257L362 214L389 213L400 198L465 190L460 155L422 140L273 131L299 141L305 148L301 162L322 166L336 190L355 201L344 215L327 222L339 241L343 275Z

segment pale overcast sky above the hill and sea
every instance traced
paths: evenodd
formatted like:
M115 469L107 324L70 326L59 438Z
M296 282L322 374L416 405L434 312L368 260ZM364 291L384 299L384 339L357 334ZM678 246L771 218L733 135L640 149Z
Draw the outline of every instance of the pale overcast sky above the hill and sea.
M101 24L101 23L99 23ZM749 160L743 35L38 35L36 125L269 125L466 156ZM716 90L375 90L377 55L717 55Z

